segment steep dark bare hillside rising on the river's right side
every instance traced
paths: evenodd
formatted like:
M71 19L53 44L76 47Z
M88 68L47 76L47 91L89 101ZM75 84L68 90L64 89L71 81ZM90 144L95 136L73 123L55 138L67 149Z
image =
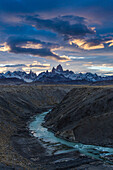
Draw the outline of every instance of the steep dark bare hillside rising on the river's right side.
M113 89L72 89L45 121L56 135L71 141L113 146Z

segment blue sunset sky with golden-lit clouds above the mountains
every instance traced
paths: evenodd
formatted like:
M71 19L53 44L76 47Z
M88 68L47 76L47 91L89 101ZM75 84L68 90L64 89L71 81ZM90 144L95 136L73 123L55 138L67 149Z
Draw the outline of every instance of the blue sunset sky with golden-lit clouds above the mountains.
M0 72L113 75L113 0L0 0Z

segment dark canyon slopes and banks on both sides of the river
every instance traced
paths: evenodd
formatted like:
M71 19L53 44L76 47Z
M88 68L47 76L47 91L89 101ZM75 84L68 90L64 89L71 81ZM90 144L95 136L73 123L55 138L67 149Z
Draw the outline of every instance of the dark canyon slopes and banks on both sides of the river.
M112 147L112 92L112 86L1 85L0 168L112 169L78 151L48 155L28 128L36 115L52 109L43 125L56 136Z

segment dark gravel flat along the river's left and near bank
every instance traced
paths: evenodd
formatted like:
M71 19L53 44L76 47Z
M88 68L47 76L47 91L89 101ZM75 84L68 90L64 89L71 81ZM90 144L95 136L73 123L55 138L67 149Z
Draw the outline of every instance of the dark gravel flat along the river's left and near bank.
M43 109L43 111L46 110L47 108ZM31 120L33 119L31 118ZM58 155L48 154L40 141L30 134L26 121L23 123L25 126L21 127L21 130L12 137L12 144L20 155L31 162L27 169L73 170L73 168L76 168L77 170L83 170L83 168L87 168L93 170L93 168L96 168L100 170L101 168L107 170L109 168L112 170L110 165L104 165L103 162L87 157L77 151Z

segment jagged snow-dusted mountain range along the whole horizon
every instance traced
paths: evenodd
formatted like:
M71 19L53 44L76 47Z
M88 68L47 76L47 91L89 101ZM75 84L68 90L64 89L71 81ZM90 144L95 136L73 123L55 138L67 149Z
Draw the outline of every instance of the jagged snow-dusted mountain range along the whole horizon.
M87 72L85 74L78 73L75 74L70 70L63 70L62 66L59 64L56 68L49 72L41 72L39 75L30 71L29 74L22 71L6 72L0 73L0 79L19 79L24 82L42 82L42 83L91 83L91 82L100 82L113 80L113 76L98 76L96 73L92 74Z

